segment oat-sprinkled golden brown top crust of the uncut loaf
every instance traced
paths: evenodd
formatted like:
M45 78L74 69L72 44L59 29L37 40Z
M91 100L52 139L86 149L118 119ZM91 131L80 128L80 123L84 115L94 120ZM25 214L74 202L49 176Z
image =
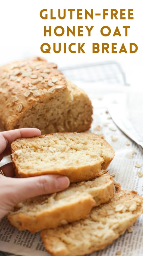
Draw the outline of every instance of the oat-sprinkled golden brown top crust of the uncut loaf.
M56 86L62 87L56 89ZM3 126L6 130L13 129L14 122L36 102L53 97L66 88L67 82L57 65L41 57L0 67L0 119Z

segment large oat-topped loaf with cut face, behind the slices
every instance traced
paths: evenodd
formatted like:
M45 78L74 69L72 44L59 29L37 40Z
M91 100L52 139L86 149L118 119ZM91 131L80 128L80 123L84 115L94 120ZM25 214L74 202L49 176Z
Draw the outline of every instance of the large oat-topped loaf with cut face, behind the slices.
M87 94L67 81L54 63L40 57L0 67L3 130L39 128L42 134L86 131L92 122Z

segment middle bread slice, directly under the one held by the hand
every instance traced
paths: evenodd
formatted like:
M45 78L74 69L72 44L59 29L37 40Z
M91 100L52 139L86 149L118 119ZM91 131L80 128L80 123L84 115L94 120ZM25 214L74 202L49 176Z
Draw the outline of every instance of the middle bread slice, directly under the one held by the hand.
M62 192L25 200L14 207L8 219L19 230L34 233L86 218L92 207L109 201L113 194L112 176L105 173L92 181L72 183Z

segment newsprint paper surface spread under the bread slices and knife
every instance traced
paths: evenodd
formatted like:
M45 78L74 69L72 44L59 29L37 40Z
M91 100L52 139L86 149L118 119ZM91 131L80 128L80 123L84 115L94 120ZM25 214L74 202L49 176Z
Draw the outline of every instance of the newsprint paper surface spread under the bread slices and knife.
M93 123L90 131L104 135L115 150L115 157L108 168L109 173L116 174L115 179L118 183L121 183L122 190L136 190L139 195L143 196L143 177L138 177L138 171L143 172L143 154L137 145L116 127L112 119L109 119L110 115L106 113L105 103L105 97L108 93L125 92L127 108L130 113L129 119L143 139L143 91L137 91L136 88L122 85L80 84L79 82L77 84L87 92L94 106ZM100 131L96 130L97 125L100 125ZM113 128L116 130L113 131ZM112 141L111 136L118 138L118 140ZM126 145L127 141L130 145ZM136 154L131 158L133 150L136 151ZM3 159L1 166L7 161L9 162L10 159ZM141 168L135 167L135 163L140 164ZM30 234L28 231L19 231L9 224L6 217L0 223L0 250L24 256L50 255L44 249L40 233ZM121 251L122 256L143 255L143 214L135 222L132 233L126 231L113 244L91 255L114 256L117 251Z

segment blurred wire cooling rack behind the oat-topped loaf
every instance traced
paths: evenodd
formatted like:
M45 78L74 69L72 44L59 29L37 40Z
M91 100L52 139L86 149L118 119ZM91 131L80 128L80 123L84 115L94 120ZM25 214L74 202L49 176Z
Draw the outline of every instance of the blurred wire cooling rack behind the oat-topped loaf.
M124 84L126 76L121 66L117 62L102 62L74 67L63 67L60 69L69 80L84 82L106 82L108 84ZM0 256L19 256L0 251Z

